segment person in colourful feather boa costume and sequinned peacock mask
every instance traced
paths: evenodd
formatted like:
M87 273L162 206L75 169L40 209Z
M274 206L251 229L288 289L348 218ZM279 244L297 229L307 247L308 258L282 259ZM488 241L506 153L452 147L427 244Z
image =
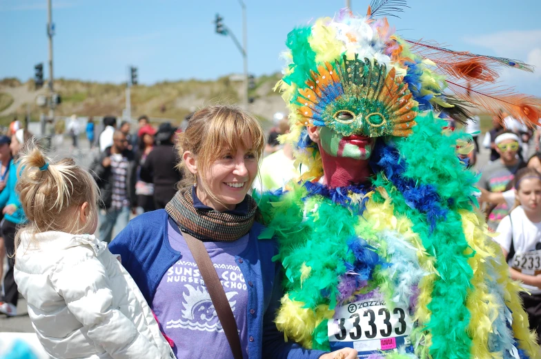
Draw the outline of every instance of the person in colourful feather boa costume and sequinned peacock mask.
M403 39L380 15L404 3L288 34L284 140L307 172L258 201L260 238L277 236L284 266L276 325L361 358L539 358L478 176L458 158L471 136L435 115L464 123L474 105L537 122L537 99L487 90L497 70L531 66Z

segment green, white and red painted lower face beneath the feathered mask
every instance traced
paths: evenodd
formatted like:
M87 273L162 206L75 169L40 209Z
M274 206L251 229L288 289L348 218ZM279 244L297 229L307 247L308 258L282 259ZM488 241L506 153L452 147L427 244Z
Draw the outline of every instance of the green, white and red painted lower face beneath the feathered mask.
M342 134L331 130L330 127L321 127L319 136L321 138L321 146L327 154L334 157L353 158L356 160L370 158L375 143L375 139L359 134L342 136Z

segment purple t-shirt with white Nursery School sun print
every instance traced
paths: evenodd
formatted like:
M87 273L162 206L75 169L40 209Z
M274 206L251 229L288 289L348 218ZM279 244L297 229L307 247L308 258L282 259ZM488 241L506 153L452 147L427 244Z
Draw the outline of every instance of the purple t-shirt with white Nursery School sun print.
M165 334L175 342L173 351L177 358L233 359L203 278L186 240L177 231L178 228L175 230L168 224L169 243L182 255L161 278L152 309ZM235 262L235 256L248 245L248 234L233 243L206 242L204 245L233 309L243 357L248 358L248 291Z

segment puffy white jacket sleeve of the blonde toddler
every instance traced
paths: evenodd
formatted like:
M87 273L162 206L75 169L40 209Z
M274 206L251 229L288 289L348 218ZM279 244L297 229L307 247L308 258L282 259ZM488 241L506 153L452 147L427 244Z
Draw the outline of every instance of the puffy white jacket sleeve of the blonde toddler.
M59 263L50 280L70 312L88 329L88 338L111 358L161 358L157 347L137 331L134 323L112 307L106 268L95 256Z

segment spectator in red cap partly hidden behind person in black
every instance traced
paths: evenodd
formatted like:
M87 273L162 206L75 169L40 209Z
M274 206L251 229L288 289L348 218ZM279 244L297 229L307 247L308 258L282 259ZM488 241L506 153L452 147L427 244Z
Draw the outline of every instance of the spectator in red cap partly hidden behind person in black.
M155 209L154 205L154 184L141 180L141 167L146 158L154 148L154 135L156 130L151 125L139 129L139 150L137 151L137 183L135 183L135 194L137 194L137 212L150 212Z

